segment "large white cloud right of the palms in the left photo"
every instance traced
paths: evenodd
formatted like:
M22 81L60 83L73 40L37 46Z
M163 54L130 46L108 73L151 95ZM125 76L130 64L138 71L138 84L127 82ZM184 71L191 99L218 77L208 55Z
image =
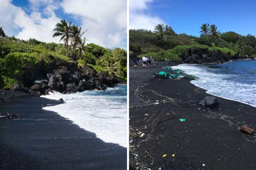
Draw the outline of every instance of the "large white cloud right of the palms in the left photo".
M127 1L126 0L63 0L64 12L79 18L88 43L106 48L127 48Z

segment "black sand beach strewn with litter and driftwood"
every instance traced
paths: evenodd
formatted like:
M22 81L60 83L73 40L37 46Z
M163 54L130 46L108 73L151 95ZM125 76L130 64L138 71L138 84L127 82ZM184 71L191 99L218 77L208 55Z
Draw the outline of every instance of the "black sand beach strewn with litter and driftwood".
M256 169L256 135L239 130L256 128L256 108L216 97L219 107L207 109L198 103L211 95L190 80L152 78L160 64L167 65L134 69L130 63L130 169Z

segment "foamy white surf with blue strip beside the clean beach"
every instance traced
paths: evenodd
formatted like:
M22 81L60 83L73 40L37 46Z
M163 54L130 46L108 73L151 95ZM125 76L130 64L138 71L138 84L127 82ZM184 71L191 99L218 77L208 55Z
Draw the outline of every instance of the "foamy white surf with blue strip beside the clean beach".
M58 92L42 96L65 103L43 109L57 112L80 128L95 133L107 143L127 147L127 86L117 85L105 91Z

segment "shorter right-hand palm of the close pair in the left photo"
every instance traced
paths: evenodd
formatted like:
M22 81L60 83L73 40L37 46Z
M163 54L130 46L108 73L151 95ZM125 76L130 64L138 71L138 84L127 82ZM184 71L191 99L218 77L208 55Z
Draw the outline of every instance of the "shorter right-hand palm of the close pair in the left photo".
M83 51L83 47L85 45L85 38L81 39L81 36L87 31L85 30L84 32L81 33L81 27L78 27L76 25L73 25L70 27L71 29L71 34L70 34L70 40L71 40L71 46L69 48L73 48L73 50L76 50L77 47L80 50L80 57L81 57L81 53Z

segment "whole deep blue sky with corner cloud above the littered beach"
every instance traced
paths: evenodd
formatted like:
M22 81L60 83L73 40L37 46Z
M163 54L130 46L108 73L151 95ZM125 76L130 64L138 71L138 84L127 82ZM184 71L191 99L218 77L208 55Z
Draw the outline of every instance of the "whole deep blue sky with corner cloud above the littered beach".
M221 33L256 36L255 7L255 0L129 0L129 29L153 31L164 24L177 34L199 37L201 25L209 23Z

